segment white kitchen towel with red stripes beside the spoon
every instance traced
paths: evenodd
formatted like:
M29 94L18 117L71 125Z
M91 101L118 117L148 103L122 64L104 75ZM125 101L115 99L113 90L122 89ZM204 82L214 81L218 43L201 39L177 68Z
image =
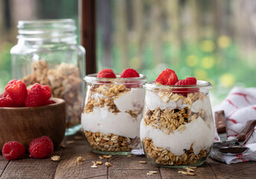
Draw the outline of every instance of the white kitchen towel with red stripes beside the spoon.
M228 139L235 138L246 126L247 121L256 119L256 88L234 87L221 104L213 107L213 113L217 110L225 112ZM218 134L215 136L215 140L218 141ZM249 151L237 156L222 154L213 149L210 157L228 164L256 161L256 127L246 147Z

